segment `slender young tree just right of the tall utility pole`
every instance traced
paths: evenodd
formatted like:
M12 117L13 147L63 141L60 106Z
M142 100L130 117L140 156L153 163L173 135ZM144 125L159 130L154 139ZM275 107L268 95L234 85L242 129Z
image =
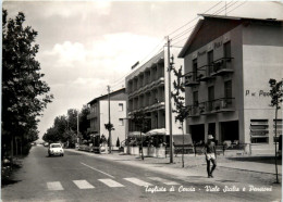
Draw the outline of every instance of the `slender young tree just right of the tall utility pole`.
M172 59L172 63L173 63L173 56ZM184 139L185 139L185 135L184 135L184 122L188 116L188 109L185 105L185 98L182 96L182 93L185 92L185 88L184 88L184 84L182 81L182 66L176 70L174 66L172 66L173 73L176 76L176 80L173 81L173 87L174 87L174 91L171 92L172 98L174 100L174 106L175 109L172 110L172 112L176 113L177 115L175 116L175 122L180 122L181 124L181 128L182 128L182 132L183 132L183 152L182 152L182 167L184 167L185 163L184 163Z

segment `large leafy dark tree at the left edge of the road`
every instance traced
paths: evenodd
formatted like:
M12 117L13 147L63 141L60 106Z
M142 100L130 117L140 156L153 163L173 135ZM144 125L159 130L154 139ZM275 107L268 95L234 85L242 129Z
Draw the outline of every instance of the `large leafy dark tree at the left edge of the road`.
M34 140L30 135L37 137L38 116L53 99L35 59L37 31L24 27L24 13L8 20L7 10L2 10L2 140L4 144L11 142L12 155L16 136L22 142Z

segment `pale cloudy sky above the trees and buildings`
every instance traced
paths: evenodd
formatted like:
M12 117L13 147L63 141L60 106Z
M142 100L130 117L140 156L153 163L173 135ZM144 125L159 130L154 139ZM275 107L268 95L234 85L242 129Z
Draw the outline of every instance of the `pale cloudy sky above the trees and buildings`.
M40 117L39 137L56 116L81 110L106 94L108 85L124 87L131 66L156 54L165 36L182 47L197 14L283 20L282 1L10 0L2 8L10 17L24 12L25 25L38 31L37 60L54 96Z

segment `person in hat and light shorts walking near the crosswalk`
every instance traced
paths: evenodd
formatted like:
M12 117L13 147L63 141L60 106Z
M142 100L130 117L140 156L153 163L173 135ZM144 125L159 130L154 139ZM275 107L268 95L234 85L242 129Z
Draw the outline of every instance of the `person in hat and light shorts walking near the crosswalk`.
M216 143L212 141L213 136L208 135L207 138L207 143L205 144L205 155L206 155L206 161L207 161L207 174L208 178L213 178L212 173L217 167L217 149L216 149ZM210 169L210 162L213 164L211 169Z

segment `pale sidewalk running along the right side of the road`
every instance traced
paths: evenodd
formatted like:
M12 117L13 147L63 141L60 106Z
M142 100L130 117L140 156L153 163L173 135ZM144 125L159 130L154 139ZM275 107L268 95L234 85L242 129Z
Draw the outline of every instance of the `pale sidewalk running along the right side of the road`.
M169 156L167 157L145 157L145 161L138 155L128 155L118 152L112 152L112 154L95 154L84 151L70 150L73 152L85 153L87 155L95 155L96 157L101 157L104 160L123 162L125 164L131 164L134 166L145 167L151 171L162 171L164 173L170 173L172 175L179 176L206 176L206 161L204 155L192 155L186 154L184 156L185 166L182 167L182 155L174 155L173 164L170 164ZM282 161L279 161L278 172L282 175ZM259 174L275 174L274 157L272 156L218 156L218 168L220 169L229 168L235 171L246 171ZM188 169L189 168L189 169Z

